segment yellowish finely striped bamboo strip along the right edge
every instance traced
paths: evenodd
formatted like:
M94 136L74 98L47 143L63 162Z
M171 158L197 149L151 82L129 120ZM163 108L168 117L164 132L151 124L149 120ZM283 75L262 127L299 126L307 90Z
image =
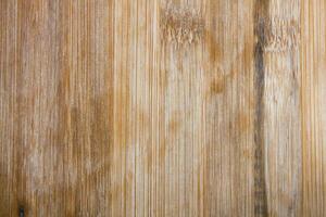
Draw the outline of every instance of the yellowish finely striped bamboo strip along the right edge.
M326 1L302 1L302 216L326 215Z

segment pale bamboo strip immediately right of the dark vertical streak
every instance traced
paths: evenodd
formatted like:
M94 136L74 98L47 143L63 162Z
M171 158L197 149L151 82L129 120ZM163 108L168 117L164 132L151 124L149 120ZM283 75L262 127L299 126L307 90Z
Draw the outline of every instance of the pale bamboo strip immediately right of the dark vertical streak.
M297 216L301 201L300 0L256 1L264 68L263 161L268 216ZM258 35L258 34L256 34ZM256 99L259 100L259 99Z

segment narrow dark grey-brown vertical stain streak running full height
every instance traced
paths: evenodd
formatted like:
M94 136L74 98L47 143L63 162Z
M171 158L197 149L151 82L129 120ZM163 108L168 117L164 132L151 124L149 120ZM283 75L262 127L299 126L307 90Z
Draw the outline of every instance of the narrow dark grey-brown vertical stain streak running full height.
M269 1L256 1L254 34L258 41L254 48L255 62L255 118L254 118L254 216L267 216L267 195L264 169L264 44L265 26L263 17L267 16Z

